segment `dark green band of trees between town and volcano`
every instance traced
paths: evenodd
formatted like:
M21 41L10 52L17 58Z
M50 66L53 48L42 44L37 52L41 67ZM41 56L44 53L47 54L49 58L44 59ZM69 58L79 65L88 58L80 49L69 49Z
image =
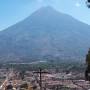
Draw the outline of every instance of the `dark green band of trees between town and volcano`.
M61 62L59 60L49 60L48 62L41 62L36 64L1 64L0 68L14 68L20 71L42 69L55 69L56 72L63 71L79 71L84 72L85 65L82 62Z

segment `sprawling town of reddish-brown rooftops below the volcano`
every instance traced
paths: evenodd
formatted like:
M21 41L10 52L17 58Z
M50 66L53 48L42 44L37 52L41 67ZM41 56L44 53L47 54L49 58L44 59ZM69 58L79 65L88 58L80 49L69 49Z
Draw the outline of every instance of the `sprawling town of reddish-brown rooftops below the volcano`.
M0 69L0 90L89 90L84 73L59 72L54 69L18 72Z

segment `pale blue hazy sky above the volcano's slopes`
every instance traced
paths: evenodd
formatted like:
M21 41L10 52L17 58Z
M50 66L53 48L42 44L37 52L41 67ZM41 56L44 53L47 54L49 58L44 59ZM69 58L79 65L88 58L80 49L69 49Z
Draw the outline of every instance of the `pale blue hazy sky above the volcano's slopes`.
M90 9L86 0L0 0L0 30L23 20L42 6L50 5L90 24Z

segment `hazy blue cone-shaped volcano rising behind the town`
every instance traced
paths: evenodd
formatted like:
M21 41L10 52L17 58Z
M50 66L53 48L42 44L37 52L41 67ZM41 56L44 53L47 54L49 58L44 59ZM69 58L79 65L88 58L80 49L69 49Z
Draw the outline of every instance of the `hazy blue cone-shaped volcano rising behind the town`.
M0 32L0 60L84 59L90 26L51 7Z

